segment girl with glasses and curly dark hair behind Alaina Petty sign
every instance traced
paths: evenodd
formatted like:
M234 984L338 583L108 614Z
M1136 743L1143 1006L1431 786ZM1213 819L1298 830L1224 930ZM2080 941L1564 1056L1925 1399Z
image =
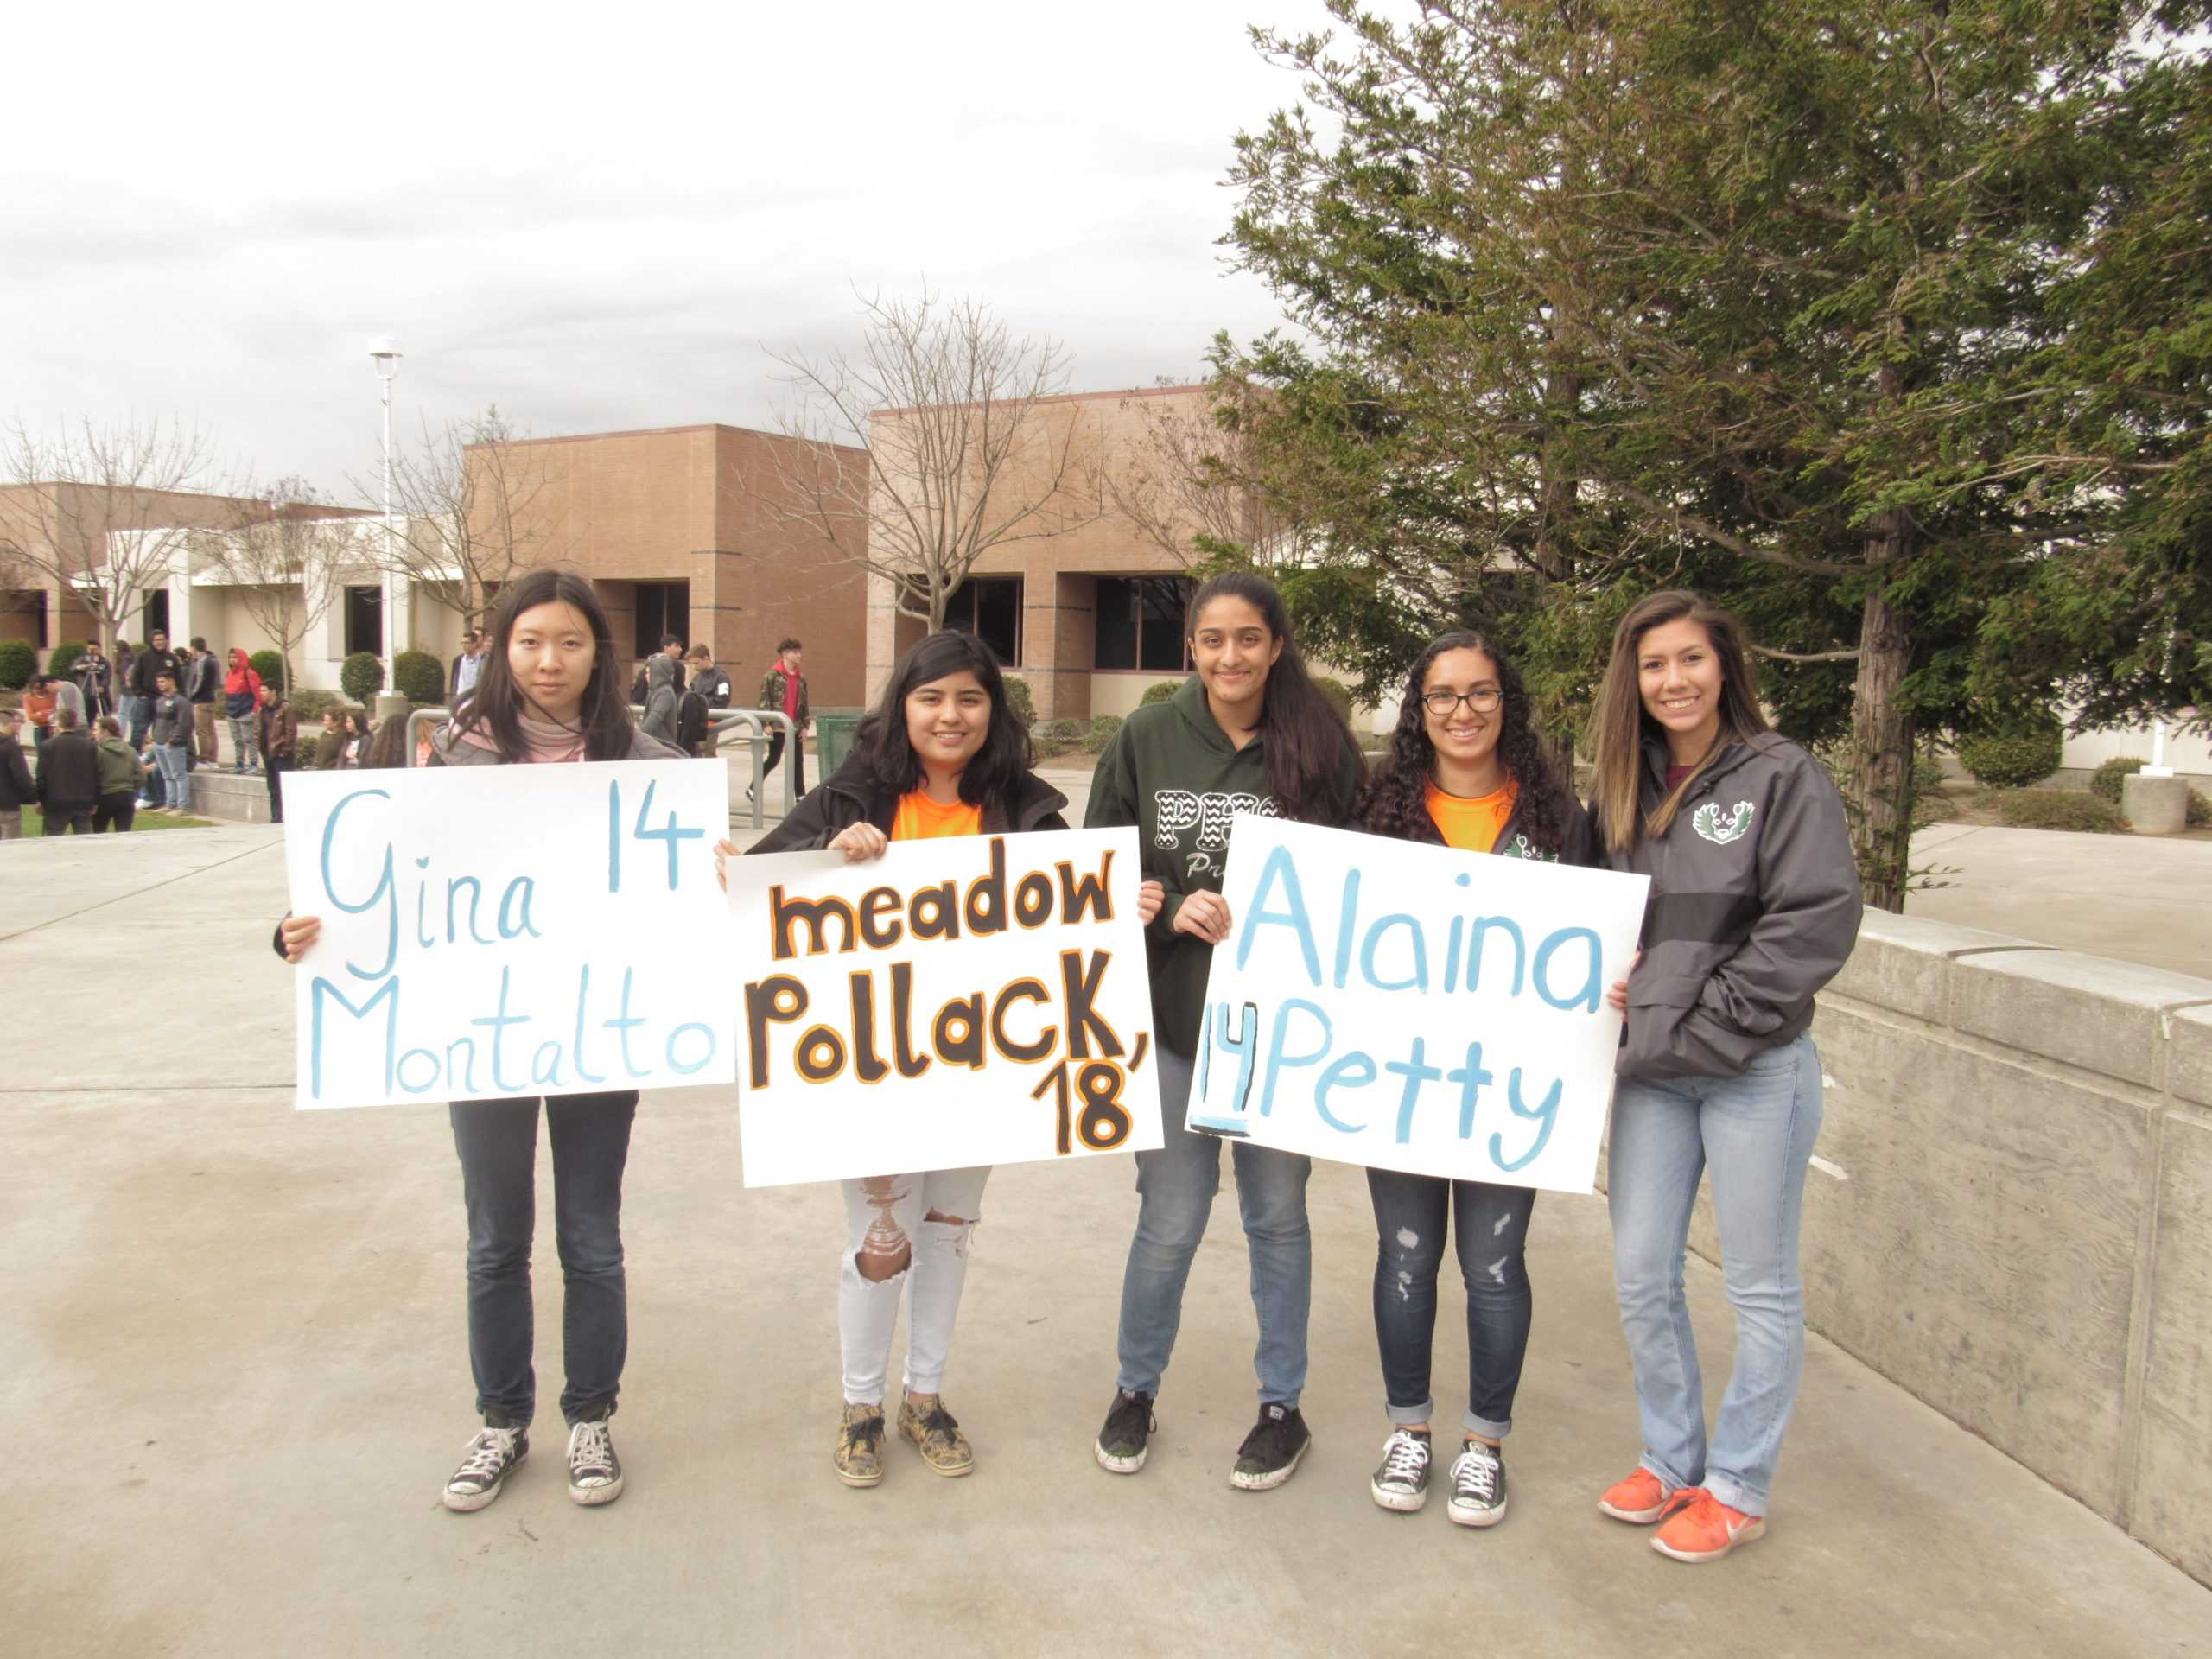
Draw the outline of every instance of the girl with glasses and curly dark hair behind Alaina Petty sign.
M1597 836L1528 723L1522 679L1478 633L1436 639L1407 679L1389 757L1360 792L1354 827L1506 858L1597 865ZM1528 1212L1535 1192L1440 1175L1367 1170L1376 1208L1376 1343L1391 1422L1369 1491L1376 1504L1429 1502L1429 1358L1447 1223L1467 1285L1467 1413L1449 1513L1495 1526L1506 1513L1502 1442L1528 1352Z

